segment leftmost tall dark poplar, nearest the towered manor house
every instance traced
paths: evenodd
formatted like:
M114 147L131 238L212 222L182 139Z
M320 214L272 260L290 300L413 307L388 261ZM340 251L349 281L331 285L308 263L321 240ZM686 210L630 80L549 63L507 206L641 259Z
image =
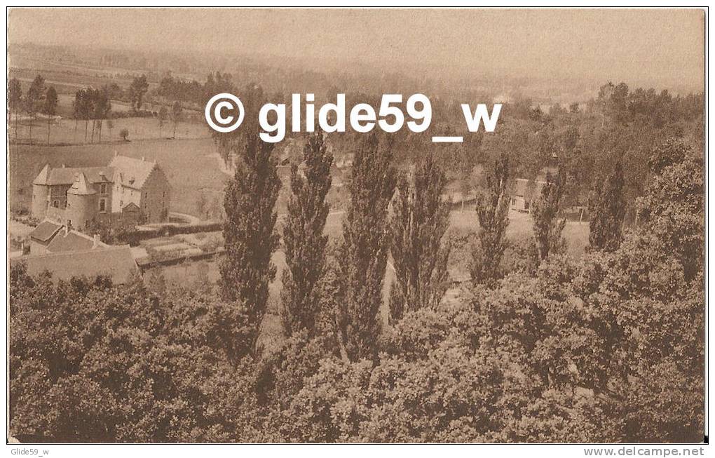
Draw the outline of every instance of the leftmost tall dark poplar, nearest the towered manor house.
M272 150L272 144L248 137L224 197L222 295L245 307L254 342L266 312L268 284L276 273L271 255L278 245L274 228L280 179Z

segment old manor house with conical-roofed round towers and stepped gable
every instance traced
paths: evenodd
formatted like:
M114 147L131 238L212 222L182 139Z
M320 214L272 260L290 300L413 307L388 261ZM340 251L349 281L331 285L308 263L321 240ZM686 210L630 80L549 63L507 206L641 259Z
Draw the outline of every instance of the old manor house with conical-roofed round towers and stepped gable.
M79 230L93 223L160 223L170 200L166 175L144 158L114 155L107 167L46 164L32 182L32 215Z

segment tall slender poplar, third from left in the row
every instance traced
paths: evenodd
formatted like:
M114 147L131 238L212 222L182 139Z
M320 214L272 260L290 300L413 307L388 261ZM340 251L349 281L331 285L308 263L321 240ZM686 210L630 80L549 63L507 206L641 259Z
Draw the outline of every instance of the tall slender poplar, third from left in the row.
M360 144L347 185L350 203L339 258L344 300L337 321L341 353L351 361L374 359L380 334L378 313L390 241L388 205L396 181L392 148L380 146L374 134Z

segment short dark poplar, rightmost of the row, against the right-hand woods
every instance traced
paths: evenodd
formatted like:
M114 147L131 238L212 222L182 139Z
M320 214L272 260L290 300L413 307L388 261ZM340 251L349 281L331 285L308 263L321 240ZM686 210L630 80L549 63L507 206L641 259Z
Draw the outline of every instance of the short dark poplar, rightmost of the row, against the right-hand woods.
M626 196L623 194L623 165L616 162L613 172L595 185L588 199L591 223L588 244L593 250L615 251L623 240L623 218L626 216Z

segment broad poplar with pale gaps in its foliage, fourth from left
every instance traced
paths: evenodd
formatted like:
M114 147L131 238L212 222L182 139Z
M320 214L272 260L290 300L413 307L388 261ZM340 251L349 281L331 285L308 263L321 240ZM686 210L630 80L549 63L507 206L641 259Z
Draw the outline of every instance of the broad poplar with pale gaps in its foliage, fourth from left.
M394 322L406 311L436 308L446 291L450 251L443 243L449 225L449 205L442 200L446 182L431 154L398 180L390 218L395 265L390 319Z

